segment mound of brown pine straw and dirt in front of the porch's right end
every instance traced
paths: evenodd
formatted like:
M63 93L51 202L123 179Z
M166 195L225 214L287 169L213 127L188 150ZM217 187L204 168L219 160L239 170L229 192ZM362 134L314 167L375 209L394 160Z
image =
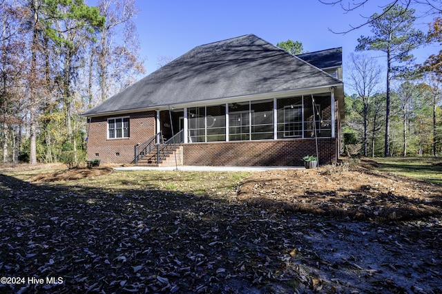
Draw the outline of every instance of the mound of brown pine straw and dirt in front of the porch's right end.
M442 214L442 187L357 167L270 170L245 180L238 198L259 207L351 220L411 220ZM367 169L368 167L368 169Z

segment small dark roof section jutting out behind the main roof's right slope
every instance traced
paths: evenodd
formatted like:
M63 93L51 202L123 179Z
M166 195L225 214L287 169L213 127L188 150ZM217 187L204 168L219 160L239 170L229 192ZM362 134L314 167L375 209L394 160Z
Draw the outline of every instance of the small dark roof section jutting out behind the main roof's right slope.
M296 55L311 65L325 69L329 67L340 67L343 65L343 48L332 48L322 51L310 52Z

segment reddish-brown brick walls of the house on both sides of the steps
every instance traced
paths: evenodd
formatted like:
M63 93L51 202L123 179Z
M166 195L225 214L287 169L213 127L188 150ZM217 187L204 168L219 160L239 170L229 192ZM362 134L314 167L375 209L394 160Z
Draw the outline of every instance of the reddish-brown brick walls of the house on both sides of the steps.
M108 116L92 118L88 124L88 160L131 163L134 146L155 135L155 112L130 115L130 138L107 138ZM336 126L339 129L340 126ZM320 164L336 162L336 138L318 138ZM182 145L183 165L301 166L302 157L316 155L314 138L251 140ZM175 164L175 158L173 158Z

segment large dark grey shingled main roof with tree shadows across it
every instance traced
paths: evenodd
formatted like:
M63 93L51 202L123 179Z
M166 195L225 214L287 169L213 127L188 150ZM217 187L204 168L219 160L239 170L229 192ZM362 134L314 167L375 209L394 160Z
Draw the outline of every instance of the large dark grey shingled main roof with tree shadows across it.
M248 34L200 45L84 115L328 85L342 85L342 81Z

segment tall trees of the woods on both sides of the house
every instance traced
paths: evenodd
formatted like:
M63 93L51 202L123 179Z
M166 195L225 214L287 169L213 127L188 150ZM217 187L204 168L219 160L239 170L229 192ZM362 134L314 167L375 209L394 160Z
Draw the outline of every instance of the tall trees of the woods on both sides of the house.
M321 2L360 9L347 5L352 1ZM342 151L356 146L365 156L437 156L442 51L415 64L412 50L442 44L442 3L390 2L365 23L372 35L361 36L355 52L344 56L345 90L352 94L345 97ZM414 26L417 4L432 16L426 32ZM84 162L81 113L145 73L137 13L134 0L99 0L97 7L83 0L0 0L3 162ZM299 41L291 43L303 50ZM383 58L372 59L370 51Z

